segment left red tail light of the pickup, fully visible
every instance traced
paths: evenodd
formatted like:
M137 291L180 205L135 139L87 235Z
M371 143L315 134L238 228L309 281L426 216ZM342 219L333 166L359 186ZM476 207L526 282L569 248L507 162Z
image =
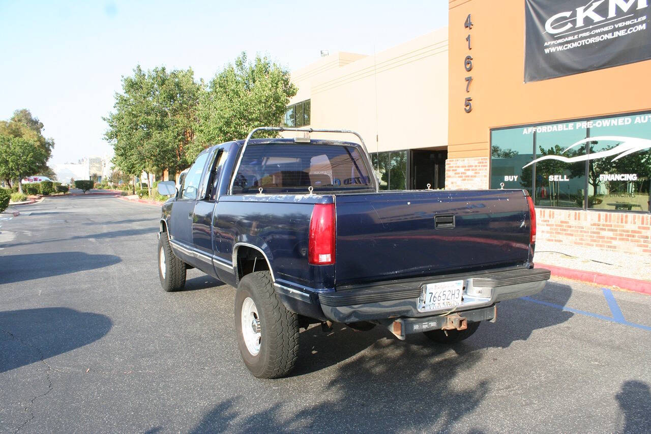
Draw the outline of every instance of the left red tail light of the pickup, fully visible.
M309 263L335 263L335 204L317 203L312 210L309 233Z

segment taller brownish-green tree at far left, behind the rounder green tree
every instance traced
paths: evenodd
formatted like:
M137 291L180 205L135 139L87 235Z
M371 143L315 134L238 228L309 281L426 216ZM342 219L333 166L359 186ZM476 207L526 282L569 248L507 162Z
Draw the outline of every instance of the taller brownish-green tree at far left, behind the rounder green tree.
M33 117L28 109L16 110L9 121L0 121L0 136L25 139L31 143L36 143L41 148L40 151L34 154L38 156L38 161L23 165L30 168L29 172L23 173L23 176L36 175L49 169L48 160L54 148L54 139L46 139L42 134L43 129L43 123L38 118ZM3 175L3 179L7 184L11 184L12 179L8 178L7 175ZM18 182L20 184L20 179L18 179Z

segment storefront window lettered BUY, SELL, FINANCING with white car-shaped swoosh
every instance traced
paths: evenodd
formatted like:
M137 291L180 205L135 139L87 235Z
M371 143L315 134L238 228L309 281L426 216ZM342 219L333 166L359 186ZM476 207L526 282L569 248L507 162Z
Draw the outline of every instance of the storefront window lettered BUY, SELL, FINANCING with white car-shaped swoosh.
M651 212L651 113L491 130L490 186L542 207Z

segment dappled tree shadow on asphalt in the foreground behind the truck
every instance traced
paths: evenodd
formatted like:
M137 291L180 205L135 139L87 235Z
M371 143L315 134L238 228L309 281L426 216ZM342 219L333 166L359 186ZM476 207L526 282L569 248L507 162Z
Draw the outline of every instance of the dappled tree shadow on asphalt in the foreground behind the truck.
M294 411L281 401L251 414L256 406L248 398L229 399L208 412L193 432L445 431L475 411L489 390L486 381L458 381L482 360L480 353L460 345L454 356L449 354L449 348L434 344L376 340L327 374L325 393L312 396L305 390L309 408ZM283 388L283 381L292 380L261 381L260 387L278 382L274 388Z

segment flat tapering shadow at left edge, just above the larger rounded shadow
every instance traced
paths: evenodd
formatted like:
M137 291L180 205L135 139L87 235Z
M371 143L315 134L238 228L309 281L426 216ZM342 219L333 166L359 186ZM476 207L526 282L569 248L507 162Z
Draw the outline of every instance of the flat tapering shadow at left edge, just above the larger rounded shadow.
M0 256L0 284L60 276L117 264L116 255L89 255L85 252L26 253Z

